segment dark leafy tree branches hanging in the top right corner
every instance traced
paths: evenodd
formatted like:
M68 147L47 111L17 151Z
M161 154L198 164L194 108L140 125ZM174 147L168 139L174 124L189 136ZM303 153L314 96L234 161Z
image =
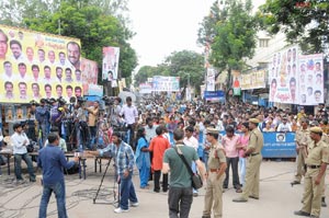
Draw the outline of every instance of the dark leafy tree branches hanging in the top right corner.
M265 30L272 34L283 31L288 42L307 53L321 53L324 43L329 43L328 1L266 0L258 15Z

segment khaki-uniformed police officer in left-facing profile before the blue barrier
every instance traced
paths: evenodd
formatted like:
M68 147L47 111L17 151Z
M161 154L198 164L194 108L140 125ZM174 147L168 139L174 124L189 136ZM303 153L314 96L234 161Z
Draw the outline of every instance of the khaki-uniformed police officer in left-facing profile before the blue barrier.
M261 150L264 144L263 134L258 128L259 123L260 121L257 118L249 119L249 128L251 131L249 144L245 152L247 157L246 184L242 195L232 199L232 202L245 203L248 202L248 197L259 199L259 174L260 164L262 162Z

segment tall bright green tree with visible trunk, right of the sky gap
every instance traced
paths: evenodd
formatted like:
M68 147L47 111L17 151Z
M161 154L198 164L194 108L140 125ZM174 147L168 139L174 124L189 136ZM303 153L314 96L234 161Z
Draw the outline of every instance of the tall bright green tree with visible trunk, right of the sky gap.
M227 16L216 23L215 37L211 44L209 62L228 71L227 87L231 84L231 70L241 70L245 59L251 58L256 47L258 23L251 15L251 0L242 3L232 0L227 5Z

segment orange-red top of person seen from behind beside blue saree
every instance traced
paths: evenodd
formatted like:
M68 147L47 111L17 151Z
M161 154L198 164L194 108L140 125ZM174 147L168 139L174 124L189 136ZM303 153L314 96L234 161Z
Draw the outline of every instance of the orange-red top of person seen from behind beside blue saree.
M152 138L149 145L149 150L154 151L152 169L162 170L164 151L170 148L170 144L163 136Z

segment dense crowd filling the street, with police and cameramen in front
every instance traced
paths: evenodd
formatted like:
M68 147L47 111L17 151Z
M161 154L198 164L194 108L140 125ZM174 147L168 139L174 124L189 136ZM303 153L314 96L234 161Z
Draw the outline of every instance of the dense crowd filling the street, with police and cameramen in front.
M57 105L56 113L53 108L55 105ZM324 174L329 163L327 157L329 126L325 105L319 105L315 114L306 113L304 107L294 112L288 108L265 108L248 103L223 105L194 101L174 104L160 97L145 100L143 105L143 108L135 106L131 97L122 104L122 100L115 97L114 104L110 106L111 115L103 114L100 118L98 102L91 107L86 107L81 101L72 105L60 105L60 102L50 101L49 110L41 102L35 108L35 115L43 136L42 141L49 139L48 125L52 126L52 133L68 139L68 135L65 134L67 131L65 122L59 121L72 116L67 113L71 106L76 117L73 127L77 123L81 125L83 122L88 131L92 133L89 142L83 146L89 148L84 153L91 156L106 153L115 159L122 195L120 207L115 213L128 211L129 200L131 206L138 206L132 181L136 165L139 172L139 188L150 188L149 182L154 181L154 192L169 191L170 217L178 217L178 214L180 217L189 217L193 196L198 196L198 191L191 186L191 176L180 154L191 163L194 173L198 172L206 180L202 217L211 217L212 211L215 217L222 217L222 193L229 187L230 169L231 185L237 193L241 193L234 202L259 199L262 133L296 131L297 173L292 184L300 184L302 177L305 176L306 188L303 197L304 207L295 215L319 217L321 203L322 206L326 205ZM88 119L82 118L86 112L89 114ZM113 128L115 126L124 126L125 133ZM19 135L20 127L14 126L14 129L15 135ZM99 133L98 136L95 133ZM77 134L76 145L80 144L79 140L86 141L81 139L81 135L83 133ZM99 138L103 139L104 146L94 150L95 147L92 145L99 142ZM27 144L25 139L20 142L23 146ZM24 153L25 150L22 153L14 152L14 156L15 158L21 156L18 161L25 160ZM30 169L30 161L27 159L25 161ZM20 162L16 162L16 165L20 167ZM20 170L15 169L15 173L20 180ZM29 173L30 180L33 181L35 179L33 170ZM313 180L314 176L317 176L316 180Z

